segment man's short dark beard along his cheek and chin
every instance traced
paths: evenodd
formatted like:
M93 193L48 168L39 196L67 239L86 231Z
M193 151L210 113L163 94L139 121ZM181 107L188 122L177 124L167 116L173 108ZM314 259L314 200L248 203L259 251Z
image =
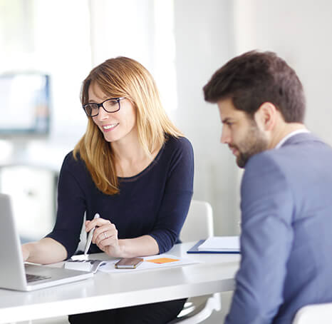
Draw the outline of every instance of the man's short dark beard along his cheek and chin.
M256 123L249 129L246 138L237 146L231 146L237 148L239 156L237 156L237 165L240 168L244 168L247 161L251 156L257 153L266 151L268 148L268 141L264 133L259 131Z

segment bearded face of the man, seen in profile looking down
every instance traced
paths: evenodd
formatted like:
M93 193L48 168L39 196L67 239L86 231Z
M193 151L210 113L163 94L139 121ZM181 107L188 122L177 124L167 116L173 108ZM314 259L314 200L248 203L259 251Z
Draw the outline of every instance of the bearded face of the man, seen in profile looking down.
M223 124L220 141L228 144L237 165L244 168L251 156L268 148L268 138L253 118L234 108L232 99L218 101L218 107Z

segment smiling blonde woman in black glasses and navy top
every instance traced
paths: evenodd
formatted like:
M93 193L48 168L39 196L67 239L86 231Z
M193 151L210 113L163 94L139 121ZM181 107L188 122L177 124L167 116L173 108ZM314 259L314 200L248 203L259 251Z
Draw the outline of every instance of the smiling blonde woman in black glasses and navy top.
M128 258L165 253L177 243L192 198L190 142L167 117L155 82L137 61L109 59L83 81L88 127L68 153L58 182L53 231L23 245L24 259L70 258L95 226L90 253ZM95 218L99 213L100 218ZM51 253L50 253L51 252ZM128 278L130 280L130 278ZM167 323L185 300L69 316L71 323Z

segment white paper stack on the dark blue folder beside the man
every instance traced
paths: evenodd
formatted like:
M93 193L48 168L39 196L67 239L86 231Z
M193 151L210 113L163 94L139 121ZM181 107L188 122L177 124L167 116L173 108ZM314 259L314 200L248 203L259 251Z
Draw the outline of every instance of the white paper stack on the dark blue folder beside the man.
M198 250L202 252L239 252L239 236L213 236L212 238L207 238L204 243L199 245Z

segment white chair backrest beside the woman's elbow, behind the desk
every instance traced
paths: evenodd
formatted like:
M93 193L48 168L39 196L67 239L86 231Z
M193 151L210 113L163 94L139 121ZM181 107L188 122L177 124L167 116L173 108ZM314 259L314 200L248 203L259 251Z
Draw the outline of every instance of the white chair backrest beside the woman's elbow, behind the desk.
M206 201L190 203L187 218L180 233L182 242L197 241L213 236L212 207Z

